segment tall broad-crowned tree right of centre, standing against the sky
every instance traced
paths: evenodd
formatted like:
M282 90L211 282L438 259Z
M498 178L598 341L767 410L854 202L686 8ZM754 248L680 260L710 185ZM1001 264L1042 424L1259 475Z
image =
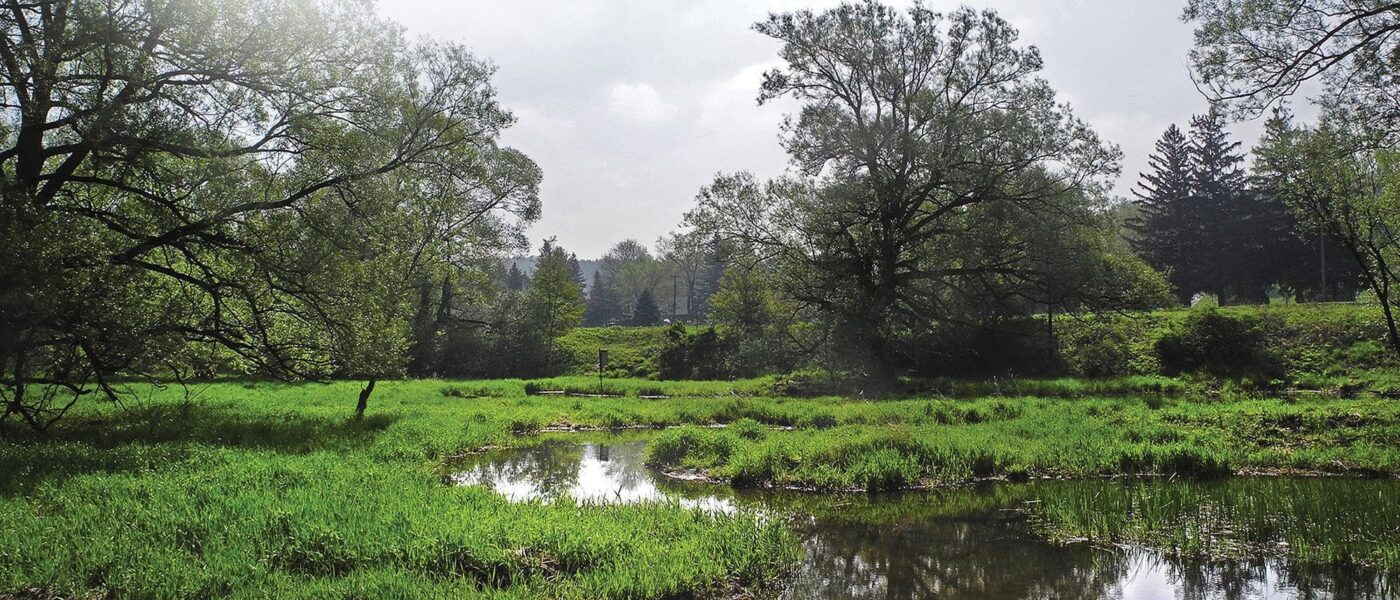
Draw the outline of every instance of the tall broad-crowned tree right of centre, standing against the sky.
M1019 241L962 252L981 214L1054 210L1116 173L1117 150L1056 102L1039 52L991 11L862 1L755 28L785 63L760 101L804 102L784 127L799 172L720 176L687 220L783 264L790 298L841 329L872 379L916 365L902 340L960 319L987 278L1025 274Z

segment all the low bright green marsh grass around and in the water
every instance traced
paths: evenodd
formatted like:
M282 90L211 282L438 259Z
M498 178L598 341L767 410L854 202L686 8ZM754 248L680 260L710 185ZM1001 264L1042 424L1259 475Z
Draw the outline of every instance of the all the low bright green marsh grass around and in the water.
M0 596L717 597L763 587L798 559L781 523L752 513L512 505L442 484L455 456L533 443L547 428L668 428L651 443L654 464L739 488L1400 473L1400 406L1373 397L1084 397L1102 385L1075 380L1002 387L1071 390L1064 397L767 397L774 379L613 380L623 397L560 397L526 396L526 383L384 382L363 420L349 418L354 382L225 382L193 397L148 390L123 407L83 404L50 439L0 442ZM637 397L652 392L666 397ZM1056 538L1212 555L1228 548L1204 545L1210 531L1239 523L1259 534L1236 550L1254 551L1277 531L1263 515L1355 524L1320 512L1326 490L1280 488L1274 503L1254 505L1162 490L1102 503L1063 494L1036 523ZM1319 561L1396 565L1397 510L1386 502L1366 509L1385 515L1371 550L1284 538Z

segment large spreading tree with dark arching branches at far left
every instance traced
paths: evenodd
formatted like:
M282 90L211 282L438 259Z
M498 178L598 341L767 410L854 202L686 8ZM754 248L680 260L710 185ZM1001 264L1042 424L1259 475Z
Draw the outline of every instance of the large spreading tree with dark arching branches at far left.
M0 428L190 355L402 368L420 274L538 218L491 67L361 3L0 15Z

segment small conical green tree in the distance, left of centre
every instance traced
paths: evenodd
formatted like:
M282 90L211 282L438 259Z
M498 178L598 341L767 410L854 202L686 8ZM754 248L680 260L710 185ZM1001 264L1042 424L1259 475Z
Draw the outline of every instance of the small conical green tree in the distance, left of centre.
M584 291L574 280L568 255L546 239L535 263L535 276L525 292L526 323L545 344L540 362L554 361L556 340L584 320Z

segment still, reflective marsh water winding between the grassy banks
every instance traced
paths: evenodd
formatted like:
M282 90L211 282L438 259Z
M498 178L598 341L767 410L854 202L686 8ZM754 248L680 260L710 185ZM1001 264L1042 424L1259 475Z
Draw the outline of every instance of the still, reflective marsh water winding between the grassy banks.
M1387 576L1368 569L1301 568L1280 558L1180 561L1142 548L1061 545L1036 536L1026 520L1051 494L1093 498L1095 487L1116 494L1124 485L1207 484L997 484L882 497L736 492L665 478L644 460L644 441L549 442L483 455L452 478L489 485L512 501L679 502L700 510L781 516L805 548L804 564L781 593L792 600L1400 597ZM1378 485L1368 492L1394 488Z

